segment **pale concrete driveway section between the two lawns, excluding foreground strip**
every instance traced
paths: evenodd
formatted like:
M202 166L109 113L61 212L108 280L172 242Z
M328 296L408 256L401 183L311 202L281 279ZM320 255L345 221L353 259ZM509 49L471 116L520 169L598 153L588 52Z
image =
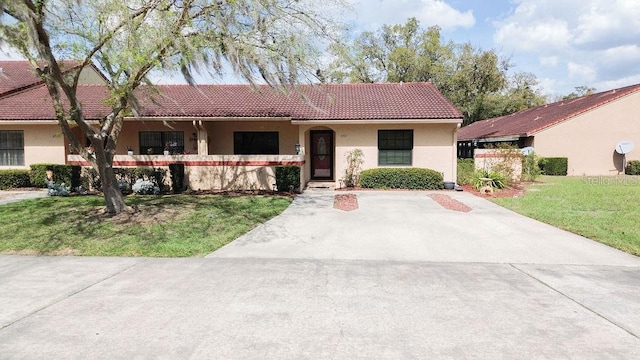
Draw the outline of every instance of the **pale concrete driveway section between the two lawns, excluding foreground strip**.
M341 193L341 192L337 192ZM447 210L430 192L360 191L359 209L309 190L284 213L210 257L638 265L638 258L518 215L466 192L440 192L472 210Z

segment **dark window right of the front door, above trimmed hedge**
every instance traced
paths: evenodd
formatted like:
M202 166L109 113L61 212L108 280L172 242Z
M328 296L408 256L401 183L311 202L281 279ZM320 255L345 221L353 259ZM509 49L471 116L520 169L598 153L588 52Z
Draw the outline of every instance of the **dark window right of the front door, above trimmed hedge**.
M413 130L378 130L378 165L411 165Z

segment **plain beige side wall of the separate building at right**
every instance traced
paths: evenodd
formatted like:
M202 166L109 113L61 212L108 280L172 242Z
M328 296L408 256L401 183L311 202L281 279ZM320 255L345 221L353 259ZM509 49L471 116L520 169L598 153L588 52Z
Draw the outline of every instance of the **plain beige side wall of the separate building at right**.
M535 134L533 146L543 157L568 158L570 176L616 175L621 157L614 148L631 140L636 148L627 160L640 160L640 93L600 106Z

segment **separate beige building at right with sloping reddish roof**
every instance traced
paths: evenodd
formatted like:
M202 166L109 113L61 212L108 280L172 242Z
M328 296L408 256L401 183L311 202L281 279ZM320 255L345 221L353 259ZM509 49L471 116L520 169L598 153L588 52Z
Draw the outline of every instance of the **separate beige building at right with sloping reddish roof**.
M621 141L638 146L627 161L640 159L640 84L475 122L458 131L458 156L506 142L568 158L568 175L616 175L623 169L615 152Z

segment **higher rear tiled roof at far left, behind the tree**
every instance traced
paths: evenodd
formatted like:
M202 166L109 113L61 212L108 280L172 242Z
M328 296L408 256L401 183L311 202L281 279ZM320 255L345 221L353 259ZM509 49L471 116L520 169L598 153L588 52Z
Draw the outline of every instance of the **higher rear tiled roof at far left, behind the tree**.
M77 64L77 61L65 61L63 66L71 69ZM0 97L42 83L28 61L0 61L0 69Z

